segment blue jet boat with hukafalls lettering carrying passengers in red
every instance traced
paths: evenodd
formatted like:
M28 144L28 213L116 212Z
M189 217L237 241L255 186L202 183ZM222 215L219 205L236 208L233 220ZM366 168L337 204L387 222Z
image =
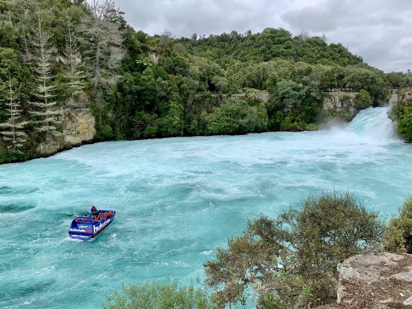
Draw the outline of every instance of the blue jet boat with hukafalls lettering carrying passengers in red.
M101 215L100 218L97 215L90 215L89 217L77 217L72 221L69 229L69 235L73 239L88 240L96 237L103 231L110 223L115 220L116 211L108 209L99 209L98 213L109 213L112 215Z

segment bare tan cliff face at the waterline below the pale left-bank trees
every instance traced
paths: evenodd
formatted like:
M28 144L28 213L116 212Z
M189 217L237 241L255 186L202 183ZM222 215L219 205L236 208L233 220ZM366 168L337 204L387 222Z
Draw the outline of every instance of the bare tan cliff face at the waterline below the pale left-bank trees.
M40 143L36 150L39 155L49 156L91 142L96 134L95 123L90 108L66 106L62 119L63 136L56 141Z

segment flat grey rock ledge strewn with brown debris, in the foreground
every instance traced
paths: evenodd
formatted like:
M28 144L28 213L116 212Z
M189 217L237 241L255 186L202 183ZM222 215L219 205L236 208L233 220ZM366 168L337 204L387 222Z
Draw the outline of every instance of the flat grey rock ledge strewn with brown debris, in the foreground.
M323 309L412 308L412 255L379 253L341 265L337 303Z

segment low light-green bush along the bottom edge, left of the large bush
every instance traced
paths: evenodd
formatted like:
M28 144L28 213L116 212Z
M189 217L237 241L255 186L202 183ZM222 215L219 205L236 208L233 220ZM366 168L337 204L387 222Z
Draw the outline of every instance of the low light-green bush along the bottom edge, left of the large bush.
M183 286L177 279L122 285L107 296L104 309L213 309L211 293L193 285Z

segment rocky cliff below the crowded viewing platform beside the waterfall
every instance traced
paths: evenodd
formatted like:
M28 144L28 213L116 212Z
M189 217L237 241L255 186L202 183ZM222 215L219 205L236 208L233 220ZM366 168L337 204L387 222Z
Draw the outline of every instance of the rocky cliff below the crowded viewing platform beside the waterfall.
M358 110L355 107L356 94L325 94L323 100L323 110L330 116L343 118L347 121L352 120Z

